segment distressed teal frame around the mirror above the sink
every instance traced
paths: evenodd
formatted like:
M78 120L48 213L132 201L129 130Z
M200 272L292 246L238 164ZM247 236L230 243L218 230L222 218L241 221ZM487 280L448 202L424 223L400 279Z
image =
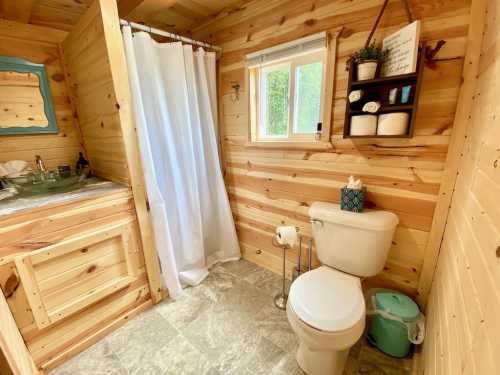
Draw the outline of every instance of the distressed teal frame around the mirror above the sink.
M38 126L32 127L12 127L0 128L0 135L19 135L19 134L57 134L56 115L52 104L52 95L50 93L49 81L45 65L36 64L31 61L23 60L17 57L0 56L0 71L2 72L17 72L17 73L32 73L38 76L40 82L40 94L43 98L43 107L45 116L49 125L45 128Z

